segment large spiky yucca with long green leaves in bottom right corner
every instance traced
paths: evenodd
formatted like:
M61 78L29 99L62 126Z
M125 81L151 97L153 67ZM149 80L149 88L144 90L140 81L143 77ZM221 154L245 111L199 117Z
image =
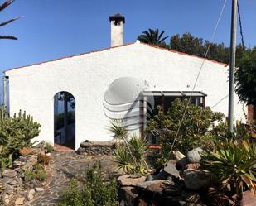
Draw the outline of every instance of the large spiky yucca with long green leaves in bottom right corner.
M201 165L215 174L225 187L230 185L236 194L236 205L241 204L244 189L256 193L256 144L248 140L215 141L214 151L201 153Z

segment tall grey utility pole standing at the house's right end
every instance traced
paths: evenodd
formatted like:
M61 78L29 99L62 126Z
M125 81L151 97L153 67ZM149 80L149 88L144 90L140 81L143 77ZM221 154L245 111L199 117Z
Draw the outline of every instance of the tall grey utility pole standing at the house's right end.
M234 118L234 68L236 50L237 0L232 0L231 38L229 56L229 132L233 132Z

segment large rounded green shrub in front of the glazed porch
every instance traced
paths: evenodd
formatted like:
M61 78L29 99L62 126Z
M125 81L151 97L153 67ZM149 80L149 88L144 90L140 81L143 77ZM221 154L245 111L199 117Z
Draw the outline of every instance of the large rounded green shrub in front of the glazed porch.
M162 160L169 158L175 137L173 149L185 154L197 146L204 145L205 134L210 132L213 122L220 122L224 117L224 114L215 113L209 107L189 105L180 125L187 103L188 99L181 101L176 98L168 108L167 114L163 113L162 108L158 106L157 115L147 121L146 132L159 137L162 147L159 157ZM180 130L176 134L179 127Z

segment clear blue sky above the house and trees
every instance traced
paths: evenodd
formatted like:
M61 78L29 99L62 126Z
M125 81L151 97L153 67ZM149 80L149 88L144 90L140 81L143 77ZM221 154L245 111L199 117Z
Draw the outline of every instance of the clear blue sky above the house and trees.
M0 0L3 2L3 0ZM110 45L109 15L126 18L124 41L135 41L148 28L167 36L191 32L210 39L224 0L16 0L0 12L3 22L24 16L2 27L1 34L18 41L0 41L0 72L4 69L52 60ZM256 45L256 2L240 1L246 46ZM215 42L229 45L231 0L225 8ZM238 35L238 41L240 36Z

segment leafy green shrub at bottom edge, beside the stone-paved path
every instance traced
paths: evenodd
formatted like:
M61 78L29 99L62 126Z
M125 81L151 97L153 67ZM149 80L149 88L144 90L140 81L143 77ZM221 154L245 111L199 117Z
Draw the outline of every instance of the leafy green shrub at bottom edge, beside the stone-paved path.
M62 195L57 206L115 206L118 199L118 185L115 180L106 182L95 164L86 173L84 188L77 180L70 181L70 187Z

